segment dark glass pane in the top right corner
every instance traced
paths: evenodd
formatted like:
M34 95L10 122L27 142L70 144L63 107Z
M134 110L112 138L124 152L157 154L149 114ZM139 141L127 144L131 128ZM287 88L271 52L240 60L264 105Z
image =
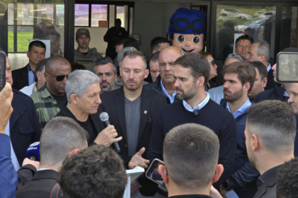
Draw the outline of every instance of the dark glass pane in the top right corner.
M298 47L298 7L282 7L282 28L280 31L280 50Z

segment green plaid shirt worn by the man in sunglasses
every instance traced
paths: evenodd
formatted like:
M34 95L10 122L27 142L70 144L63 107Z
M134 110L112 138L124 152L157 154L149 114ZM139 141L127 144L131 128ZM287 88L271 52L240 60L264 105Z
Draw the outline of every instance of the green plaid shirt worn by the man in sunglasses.
M60 108L57 105L57 101L48 92L45 84L38 90L32 93L30 96L36 107L38 114L38 121L40 124L40 130L43 132L45 124L47 124L58 112Z

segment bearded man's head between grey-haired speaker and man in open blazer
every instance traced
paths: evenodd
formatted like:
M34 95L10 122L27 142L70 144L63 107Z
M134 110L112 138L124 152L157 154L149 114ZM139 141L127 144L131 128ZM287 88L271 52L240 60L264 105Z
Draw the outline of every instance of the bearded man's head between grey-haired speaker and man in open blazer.
M99 76L101 93L113 91L114 83L117 81L117 69L110 57L104 57L94 62L94 74Z

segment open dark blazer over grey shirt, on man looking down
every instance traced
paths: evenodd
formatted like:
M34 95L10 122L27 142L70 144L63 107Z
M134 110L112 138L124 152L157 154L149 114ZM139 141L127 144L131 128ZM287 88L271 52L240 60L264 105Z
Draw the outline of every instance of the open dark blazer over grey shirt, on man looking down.
M128 163L131 161L131 157L128 157L123 87L104 93L100 97L101 105L99 105L99 112L107 112L109 114L109 122L114 125L118 136L123 137L121 141L118 141L118 145L121 149L119 154L121 155L121 158L123 158L126 168L128 168ZM162 106L167 105L167 100L162 95L147 90L144 87L140 97L140 127L138 132L137 151L139 151L140 148L145 147L146 150L145 153L143 153L143 157L145 158L155 115L157 115Z

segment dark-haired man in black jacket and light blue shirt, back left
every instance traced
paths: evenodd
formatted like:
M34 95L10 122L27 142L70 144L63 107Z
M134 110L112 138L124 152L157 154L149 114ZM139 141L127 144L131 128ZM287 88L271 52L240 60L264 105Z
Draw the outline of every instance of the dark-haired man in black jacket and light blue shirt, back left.
M16 90L21 90L21 88L31 86L34 83L36 64L45 59L45 44L39 40L31 42L28 47L27 57L29 63L26 66L12 71L13 88Z

